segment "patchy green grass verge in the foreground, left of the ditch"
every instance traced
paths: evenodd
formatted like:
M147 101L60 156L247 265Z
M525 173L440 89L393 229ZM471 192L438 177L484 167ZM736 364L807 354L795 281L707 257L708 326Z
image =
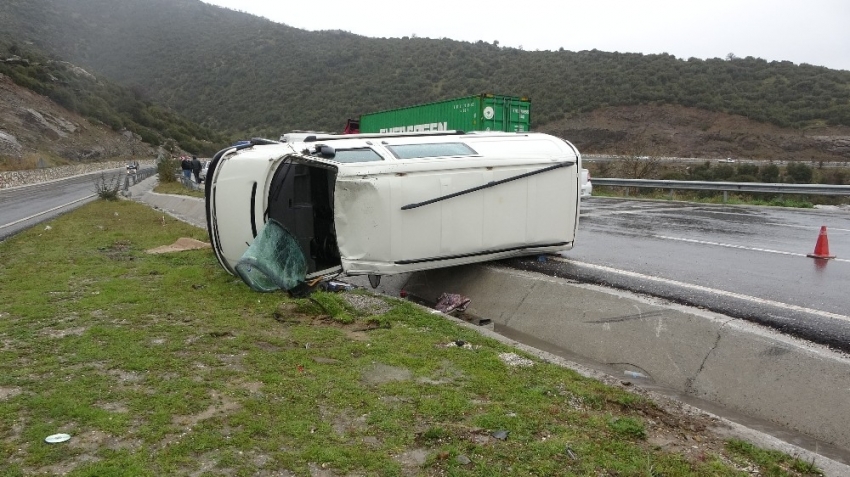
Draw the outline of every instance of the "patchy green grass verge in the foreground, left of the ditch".
M209 249L146 253L179 237L207 239L100 200L0 243L0 475L818 475L707 432L659 445L705 423L510 367L406 301L261 294Z

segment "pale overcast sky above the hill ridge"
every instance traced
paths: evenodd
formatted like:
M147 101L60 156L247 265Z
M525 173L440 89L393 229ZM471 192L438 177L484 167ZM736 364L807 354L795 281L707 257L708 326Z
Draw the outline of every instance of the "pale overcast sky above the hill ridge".
M848 0L203 0L304 30L524 50L727 54L850 71Z

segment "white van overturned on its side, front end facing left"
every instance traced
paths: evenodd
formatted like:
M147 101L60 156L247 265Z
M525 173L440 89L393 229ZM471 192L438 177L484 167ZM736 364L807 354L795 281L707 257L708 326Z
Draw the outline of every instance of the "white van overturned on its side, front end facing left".
M375 283L572 248L580 170L572 144L539 133L254 140L213 159L207 227L221 265L243 279L240 260L273 225L289 245L265 249L272 260L297 259L298 280L341 273Z

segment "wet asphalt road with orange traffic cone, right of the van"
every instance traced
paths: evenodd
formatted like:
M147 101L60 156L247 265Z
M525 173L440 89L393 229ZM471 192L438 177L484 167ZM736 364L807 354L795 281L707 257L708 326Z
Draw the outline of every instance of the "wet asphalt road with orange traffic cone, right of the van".
M833 260L806 257L827 226ZM513 266L707 308L850 352L850 211L590 198L563 260Z

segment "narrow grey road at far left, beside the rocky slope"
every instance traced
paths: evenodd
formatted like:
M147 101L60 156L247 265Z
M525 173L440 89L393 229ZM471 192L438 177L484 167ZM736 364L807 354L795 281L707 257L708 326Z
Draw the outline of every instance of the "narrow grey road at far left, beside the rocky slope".
M105 171L107 181L123 180L123 169ZM92 173L12 189L0 189L0 240L44 220L73 210L97 197Z

